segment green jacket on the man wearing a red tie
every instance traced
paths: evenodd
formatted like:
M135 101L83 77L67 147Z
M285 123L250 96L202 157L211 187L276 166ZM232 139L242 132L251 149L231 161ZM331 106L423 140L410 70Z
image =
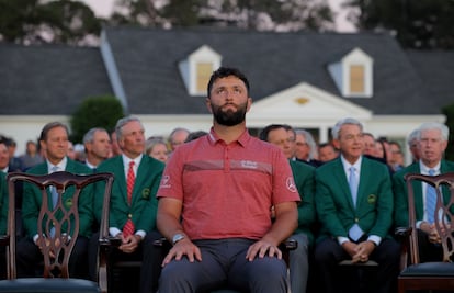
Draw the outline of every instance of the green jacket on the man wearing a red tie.
M163 168L164 164L161 161L147 155L143 156L137 169L133 200L129 205L127 203L126 177L122 156L107 159L99 166L98 172L111 172L115 177L111 194L109 227L116 227L122 230L130 215L136 230L149 232L155 229L158 211L156 193ZM97 192L93 211L98 223L101 221L102 202L102 194Z

